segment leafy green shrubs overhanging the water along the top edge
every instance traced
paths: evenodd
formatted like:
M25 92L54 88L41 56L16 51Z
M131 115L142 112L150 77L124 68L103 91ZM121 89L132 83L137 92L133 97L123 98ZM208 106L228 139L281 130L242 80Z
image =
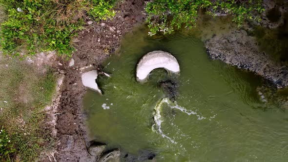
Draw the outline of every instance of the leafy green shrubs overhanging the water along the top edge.
M234 15L233 21L239 26L247 19L259 21L258 15L264 11L261 2L262 0L152 0L145 7L149 35L157 32L170 34L183 25L195 26L200 9L213 16L217 12Z

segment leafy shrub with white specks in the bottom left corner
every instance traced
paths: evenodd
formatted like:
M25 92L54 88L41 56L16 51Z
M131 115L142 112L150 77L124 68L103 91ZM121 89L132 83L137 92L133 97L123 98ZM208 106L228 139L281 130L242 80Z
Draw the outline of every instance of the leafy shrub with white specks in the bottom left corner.
M0 129L0 160L9 159L9 154L15 152L13 144L10 141L4 128Z

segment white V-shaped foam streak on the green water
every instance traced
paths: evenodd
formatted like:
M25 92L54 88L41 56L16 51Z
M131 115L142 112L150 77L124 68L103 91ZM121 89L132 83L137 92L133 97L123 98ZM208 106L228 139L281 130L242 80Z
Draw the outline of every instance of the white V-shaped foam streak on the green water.
M161 101L159 101L156 106L154 107L154 110L155 110L155 115L154 115L154 121L155 121L155 124L152 125L152 130L154 131L157 131L158 133L161 134L161 136L163 138L166 138L168 139L170 142L172 143L175 143L177 144L177 142L175 142L172 138L168 137L167 135L165 135L161 129L161 123L163 122L161 120L161 108L162 108L162 105L163 103L167 103L167 105L170 107L170 108L175 108L175 109L178 109L184 113L186 113L187 115L196 115L198 117L198 120L203 120L203 119L206 119L205 117L202 117L200 115L198 115L196 112L192 111L192 110L187 110L185 109L185 107L182 107L182 106L179 106L177 103L172 103L171 101L169 101L168 98L163 98ZM173 125L173 123L172 123Z

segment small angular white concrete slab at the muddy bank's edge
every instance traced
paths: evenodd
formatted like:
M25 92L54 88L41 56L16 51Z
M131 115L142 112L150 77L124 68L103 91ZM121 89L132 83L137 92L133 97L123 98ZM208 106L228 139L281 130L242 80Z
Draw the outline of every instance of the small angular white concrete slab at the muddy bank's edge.
M95 90L97 92L99 92L100 94L102 94L101 90L99 89L97 83L96 83L96 79L98 77L98 73L97 70L92 70L89 72L86 72L84 74L82 74L82 83L85 87L88 87L92 90Z

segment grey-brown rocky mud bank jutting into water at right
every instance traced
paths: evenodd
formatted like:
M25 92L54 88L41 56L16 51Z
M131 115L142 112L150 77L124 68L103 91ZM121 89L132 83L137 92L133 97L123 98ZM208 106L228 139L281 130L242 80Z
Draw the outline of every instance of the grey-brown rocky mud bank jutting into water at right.
M244 30L215 36L205 43L211 59L218 59L238 68L247 69L273 82L278 88L288 86L288 68L258 50L254 37Z

